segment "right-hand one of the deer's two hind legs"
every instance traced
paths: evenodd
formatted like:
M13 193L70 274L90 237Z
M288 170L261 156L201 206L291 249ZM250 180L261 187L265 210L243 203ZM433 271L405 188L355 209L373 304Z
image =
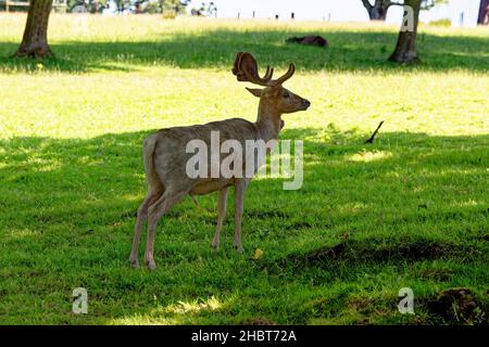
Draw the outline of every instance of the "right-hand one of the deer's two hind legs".
M150 270L156 268L154 262L154 235L160 218L178 204L188 192L175 192L166 189L163 195L148 209L148 239L146 242L145 261Z

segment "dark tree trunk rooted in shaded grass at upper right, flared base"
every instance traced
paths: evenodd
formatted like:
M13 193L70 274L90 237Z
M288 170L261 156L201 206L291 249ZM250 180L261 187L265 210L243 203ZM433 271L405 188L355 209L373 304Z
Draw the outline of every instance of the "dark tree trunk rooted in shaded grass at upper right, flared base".
M419 62L416 51L416 35L417 23L419 21L419 9L422 0L404 0L405 7L413 9L413 17L409 16L410 12L404 11L408 16L403 17L403 22L412 21L412 28L409 28L410 23L402 23L401 31L399 31L398 42L389 61L397 63L416 63ZM408 27L406 27L408 26Z

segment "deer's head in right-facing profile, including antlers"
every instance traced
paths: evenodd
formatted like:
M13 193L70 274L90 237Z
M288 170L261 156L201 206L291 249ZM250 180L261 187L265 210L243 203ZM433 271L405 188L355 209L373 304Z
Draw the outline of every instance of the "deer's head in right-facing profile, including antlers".
M260 77L258 72L256 60L248 52L239 52L236 55L233 74L239 81L249 81L254 85L263 86L263 89L247 88L253 95L260 98L260 103L266 105L277 114L293 113L305 111L311 103L304 98L292 93L281 85L292 77L296 72L293 64L289 65L289 69L285 75L277 79L272 79L274 69L266 67L266 73Z

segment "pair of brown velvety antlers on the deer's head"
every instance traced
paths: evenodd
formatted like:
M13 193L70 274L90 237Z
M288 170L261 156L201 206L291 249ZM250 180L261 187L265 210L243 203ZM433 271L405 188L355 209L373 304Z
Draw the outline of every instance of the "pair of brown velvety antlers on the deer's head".
M273 80L272 76L274 74L274 69L266 66L265 75L260 77L256 60L248 52L239 52L236 54L235 65L233 67L233 74L239 81L249 81L265 87L281 85L287 79L292 77L294 70L296 67L293 64L290 64L288 72L284 76Z

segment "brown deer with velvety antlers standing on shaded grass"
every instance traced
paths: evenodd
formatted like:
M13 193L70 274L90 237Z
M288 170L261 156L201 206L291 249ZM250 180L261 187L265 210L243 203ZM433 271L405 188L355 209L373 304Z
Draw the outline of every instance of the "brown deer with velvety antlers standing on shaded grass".
M233 74L238 81L247 81L264 88L246 88L251 94L260 98L258 118L252 123L242 118L230 118L204 125L172 127L158 130L143 141L143 165L148 192L137 211L133 247L129 264L138 268L138 249L142 223L148 220L148 234L145 248L145 262L148 269L154 270L154 239L159 220L185 196L217 192L217 223L211 246L218 249L221 230L226 216L226 202L229 187L234 187L235 230L234 247L243 252L241 243L241 219L243 214L244 191L252 177L189 177L186 171L191 154L186 146L189 141L199 139L205 144L211 142L211 133L218 131L220 141L277 140L285 123L283 114L305 111L311 103L283 87L283 83L294 74L294 64L290 64L287 73L272 79L274 69L266 67L265 75L259 75L258 63L251 53L239 52L236 55ZM212 155L212 153L211 153ZM260 163L254 163L256 171Z

